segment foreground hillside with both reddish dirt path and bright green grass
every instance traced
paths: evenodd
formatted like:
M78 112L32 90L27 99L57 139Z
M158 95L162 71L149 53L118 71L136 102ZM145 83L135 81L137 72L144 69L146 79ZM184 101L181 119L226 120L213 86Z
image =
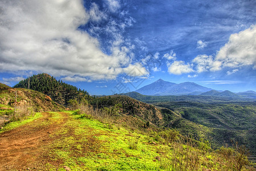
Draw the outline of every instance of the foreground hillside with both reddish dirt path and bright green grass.
M95 114L43 112L0 131L0 170L254 170L240 147L212 150L172 129L138 133Z

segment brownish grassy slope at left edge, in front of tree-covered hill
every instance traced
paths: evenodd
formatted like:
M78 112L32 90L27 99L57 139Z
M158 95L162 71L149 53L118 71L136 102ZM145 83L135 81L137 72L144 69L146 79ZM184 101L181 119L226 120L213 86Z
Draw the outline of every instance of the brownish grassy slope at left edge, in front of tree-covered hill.
M15 103L15 99L17 103ZM14 116L16 110L21 111L22 115L27 115L31 110L32 112L42 112L64 109L62 105L52 101L49 96L41 92L25 88L11 88L0 83L0 127L14 117L18 120L22 119L23 116L20 114Z

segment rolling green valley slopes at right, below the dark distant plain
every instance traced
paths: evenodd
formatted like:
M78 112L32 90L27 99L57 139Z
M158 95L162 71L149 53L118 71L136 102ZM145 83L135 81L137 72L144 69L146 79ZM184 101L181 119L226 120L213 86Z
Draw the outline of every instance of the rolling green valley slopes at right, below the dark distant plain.
M236 141L256 154L255 103L202 104L194 102L157 103L180 116L170 120L168 127L177 128L184 135L209 140L214 148ZM233 144L232 142L233 141Z

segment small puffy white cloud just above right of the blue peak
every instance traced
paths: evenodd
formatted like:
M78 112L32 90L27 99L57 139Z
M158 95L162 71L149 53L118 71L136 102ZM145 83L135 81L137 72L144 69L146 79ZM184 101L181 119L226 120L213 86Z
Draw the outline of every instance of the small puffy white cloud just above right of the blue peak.
M181 60L176 60L172 64L168 64L168 72L170 74L181 75L193 71L190 64L185 64L185 62Z

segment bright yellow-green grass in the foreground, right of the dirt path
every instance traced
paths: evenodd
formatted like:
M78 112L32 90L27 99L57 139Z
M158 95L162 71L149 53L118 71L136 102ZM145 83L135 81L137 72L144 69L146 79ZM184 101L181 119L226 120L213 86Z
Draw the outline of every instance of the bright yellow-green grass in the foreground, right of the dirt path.
M53 170L63 170L65 165L72 170L232 170L229 160L213 150L198 148L192 141L152 143L154 137L116 125L109 128L100 121L68 113L71 119L55 135L62 137L47 147L50 153L46 156L50 160L44 167L51 165Z

